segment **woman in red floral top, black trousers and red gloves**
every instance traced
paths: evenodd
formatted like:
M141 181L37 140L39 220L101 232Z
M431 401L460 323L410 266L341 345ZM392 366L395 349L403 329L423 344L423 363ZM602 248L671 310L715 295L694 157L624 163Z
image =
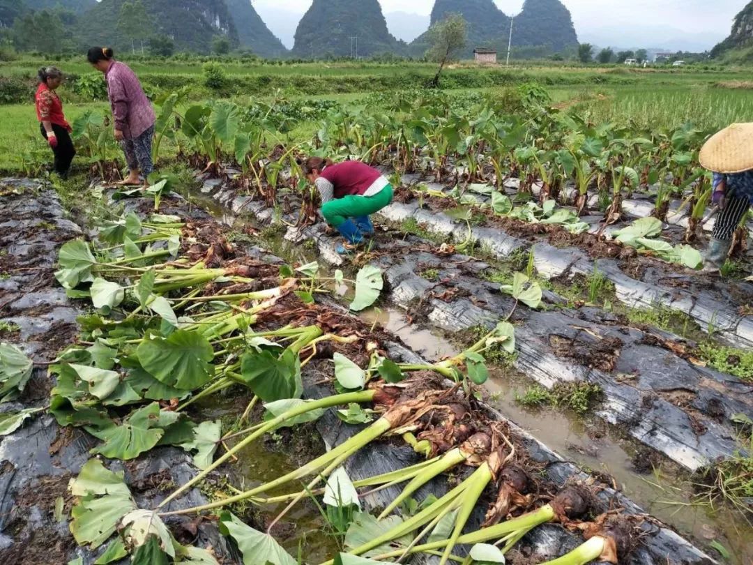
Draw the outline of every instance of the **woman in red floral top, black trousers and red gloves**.
M39 69L39 88L35 96L39 129L55 154L55 172L65 179L71 169L76 150L73 148L71 126L62 113L62 102L55 89L62 83L62 72L56 67Z

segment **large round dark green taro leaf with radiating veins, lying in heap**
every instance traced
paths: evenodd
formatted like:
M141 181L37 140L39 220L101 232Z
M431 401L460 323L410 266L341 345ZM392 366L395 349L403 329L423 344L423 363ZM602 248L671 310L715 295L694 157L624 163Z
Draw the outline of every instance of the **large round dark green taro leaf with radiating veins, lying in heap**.
M194 331L177 330L168 337L147 337L139 344L136 355L145 371L176 389L197 389L214 376L210 363L215 358L212 345Z

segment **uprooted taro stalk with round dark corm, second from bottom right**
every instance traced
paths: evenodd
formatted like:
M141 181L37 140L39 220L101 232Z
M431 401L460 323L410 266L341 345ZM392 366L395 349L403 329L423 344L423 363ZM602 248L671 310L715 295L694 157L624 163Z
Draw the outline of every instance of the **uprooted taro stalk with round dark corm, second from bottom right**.
M450 491L450 493L452 493L452 491ZM437 500L437 502L440 502L440 500ZM566 487L557 494L552 502L541 506L539 509L520 515L517 518L501 522L500 524L483 527L472 533L466 533L457 537L453 536L452 539L439 539L434 542L410 545L407 548L399 549L389 548L389 542L392 542L392 540L395 539L395 536L391 535L389 536L389 539L385 539L387 536L380 536L379 544L369 543L367 545L361 545L361 547L349 551L349 554L360 555L370 551L371 559L386 560L395 557L401 558L409 554L434 552L444 549L444 557L444 555L449 556L451 548L455 545L475 545L485 542L495 542L495 545L504 543L505 545L502 547L501 551L505 554L518 541L520 541L526 533L529 533L529 531L541 524L546 524L547 522L569 524L570 521L586 515L593 505L592 501L593 495L585 487ZM437 502L435 502L435 504ZM398 524L398 526L393 529L392 533L410 533L413 524L410 524L409 527L403 526L403 524L407 524L409 521ZM428 533L428 530L422 532L423 535L425 535L425 533ZM386 551L379 553L382 549ZM332 565L332 563L332 561L328 561L322 565Z

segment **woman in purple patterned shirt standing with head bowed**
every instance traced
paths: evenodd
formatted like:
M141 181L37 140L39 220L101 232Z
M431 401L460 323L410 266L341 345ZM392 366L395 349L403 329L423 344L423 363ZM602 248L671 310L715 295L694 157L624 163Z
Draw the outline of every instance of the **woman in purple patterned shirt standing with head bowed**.
M122 186L147 184L154 170L151 161L151 142L154 137L154 108L146 97L139 78L125 64L114 60L109 47L92 47L87 53L89 63L105 73L107 94L115 122L115 139L120 142L128 163L128 178L117 183Z

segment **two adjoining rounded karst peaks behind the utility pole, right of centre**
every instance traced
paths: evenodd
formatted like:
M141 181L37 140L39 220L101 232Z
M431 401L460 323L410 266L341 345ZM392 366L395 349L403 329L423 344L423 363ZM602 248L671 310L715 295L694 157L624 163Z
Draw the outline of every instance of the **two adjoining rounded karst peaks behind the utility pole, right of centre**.
M474 47L507 50L511 18L492 0L436 0L431 24L449 14L460 14L468 23L464 56L471 56ZM523 10L514 18L513 46L547 46L553 53L578 47L570 11L559 0L526 0ZM427 47L424 34L413 41L410 52L419 56Z

